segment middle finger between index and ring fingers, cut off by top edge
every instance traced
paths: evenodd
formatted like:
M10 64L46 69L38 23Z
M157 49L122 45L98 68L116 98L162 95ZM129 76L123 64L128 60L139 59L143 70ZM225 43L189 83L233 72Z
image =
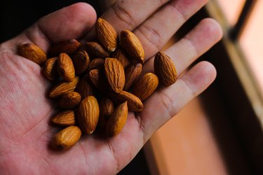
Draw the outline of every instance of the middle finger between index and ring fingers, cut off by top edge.
M194 15L207 0L173 0L135 29L135 34L145 50L145 58L152 57L162 50L173 34Z

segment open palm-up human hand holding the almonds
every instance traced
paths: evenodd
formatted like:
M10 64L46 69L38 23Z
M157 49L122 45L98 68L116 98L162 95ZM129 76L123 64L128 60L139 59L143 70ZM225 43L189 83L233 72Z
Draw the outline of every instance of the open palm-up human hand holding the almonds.
M142 41L147 62L144 72L153 70L153 56L163 48L184 22L206 0L118 1L102 15L117 31L130 29ZM163 6L162 6L163 5ZM161 8L159 8L162 6ZM174 85L156 91L144 102L141 113L129 113L121 133L111 139L83 137L68 151L48 148L58 129L48 121L55 112L45 98L50 83L34 62L16 54L18 45L35 43L47 51L51 43L76 38L82 41L96 21L95 10L76 3L51 13L19 36L0 45L0 172L2 174L116 174L140 151L145 142L191 99L215 79L209 62L199 62L180 74L222 37L212 19L202 20L166 52L180 78ZM187 54L186 54L187 53Z

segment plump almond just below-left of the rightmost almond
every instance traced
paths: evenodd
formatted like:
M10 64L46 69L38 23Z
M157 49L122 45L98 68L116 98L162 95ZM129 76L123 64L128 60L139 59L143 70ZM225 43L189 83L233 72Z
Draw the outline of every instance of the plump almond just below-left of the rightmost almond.
M132 93L142 102L147 99L158 87L159 78L154 73L146 73L133 86Z

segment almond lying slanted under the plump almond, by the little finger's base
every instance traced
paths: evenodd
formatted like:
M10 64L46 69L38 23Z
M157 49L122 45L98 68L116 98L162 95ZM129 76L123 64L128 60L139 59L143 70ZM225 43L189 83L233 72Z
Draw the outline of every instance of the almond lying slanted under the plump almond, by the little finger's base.
M140 112L143 109L142 101L130 92L122 90L118 94L112 93L110 96L117 104L127 102L129 111Z

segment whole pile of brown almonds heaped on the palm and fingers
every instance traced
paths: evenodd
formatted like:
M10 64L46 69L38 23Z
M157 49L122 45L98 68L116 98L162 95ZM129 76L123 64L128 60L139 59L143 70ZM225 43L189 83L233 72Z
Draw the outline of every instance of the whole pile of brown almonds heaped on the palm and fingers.
M159 83L169 86L177 78L173 61L162 52L154 58L156 74L141 75L144 49L133 32L123 30L118 36L109 22L98 18L95 33L97 40L84 47L69 39L53 45L48 54L32 43L18 48L19 55L42 66L43 76L56 84L49 97L61 110L51 122L64 129L50 142L53 148L70 148L82 133L93 134L96 128L116 136L128 111L142 111L142 102Z

